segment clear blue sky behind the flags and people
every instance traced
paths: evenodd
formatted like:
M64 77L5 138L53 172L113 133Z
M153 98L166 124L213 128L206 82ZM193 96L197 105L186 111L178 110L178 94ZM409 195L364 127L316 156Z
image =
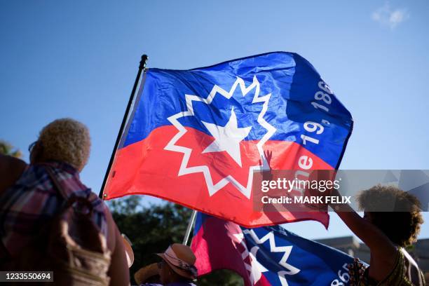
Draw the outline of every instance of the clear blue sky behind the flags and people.
M428 12L425 0L0 0L0 138L27 160L50 121L86 123L81 179L98 193L142 53L148 67L191 69L285 50L306 57L355 119L342 169L429 169ZM336 214L329 231L286 227L351 234Z

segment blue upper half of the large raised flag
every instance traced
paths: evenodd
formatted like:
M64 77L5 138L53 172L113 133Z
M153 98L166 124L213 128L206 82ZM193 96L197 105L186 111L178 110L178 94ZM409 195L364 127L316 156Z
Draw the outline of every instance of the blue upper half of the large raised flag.
M190 110L178 119L186 128L211 135L204 123L224 126L234 112L238 128L252 128L245 140L260 140L269 125L275 132L268 140L303 144L332 168L353 128L350 112L304 57L275 52L184 71L147 70L123 147Z

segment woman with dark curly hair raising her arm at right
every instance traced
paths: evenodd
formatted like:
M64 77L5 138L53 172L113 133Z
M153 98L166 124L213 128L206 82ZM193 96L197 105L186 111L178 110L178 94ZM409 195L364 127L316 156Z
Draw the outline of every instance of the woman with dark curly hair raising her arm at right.
M357 198L360 217L349 205L332 205L371 251L370 267L349 265L350 285L425 285L423 273L404 247L416 241L423 218L420 203L395 186L373 186Z

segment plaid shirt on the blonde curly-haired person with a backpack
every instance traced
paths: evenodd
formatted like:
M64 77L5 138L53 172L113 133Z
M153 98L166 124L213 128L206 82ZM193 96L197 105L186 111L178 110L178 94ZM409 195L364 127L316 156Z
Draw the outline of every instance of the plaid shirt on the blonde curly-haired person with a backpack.
M79 179L70 165L50 162L67 196L88 197L93 205L93 221L107 238L106 205ZM41 227L60 210L64 198L55 189L43 165L30 165L14 186L0 195L0 238L12 257L19 254Z

